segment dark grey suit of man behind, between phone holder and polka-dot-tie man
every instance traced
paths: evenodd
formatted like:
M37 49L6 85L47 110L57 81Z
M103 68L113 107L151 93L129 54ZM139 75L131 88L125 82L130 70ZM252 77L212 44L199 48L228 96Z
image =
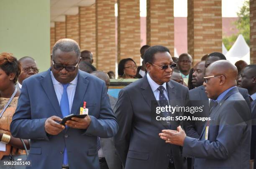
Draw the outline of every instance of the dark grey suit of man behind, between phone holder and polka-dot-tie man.
M113 109L117 99L108 95L110 99L110 105ZM113 142L113 137L111 138L100 138L100 146L103 150L104 157L107 161L109 169L122 169L122 163L120 158L116 153L116 149Z

